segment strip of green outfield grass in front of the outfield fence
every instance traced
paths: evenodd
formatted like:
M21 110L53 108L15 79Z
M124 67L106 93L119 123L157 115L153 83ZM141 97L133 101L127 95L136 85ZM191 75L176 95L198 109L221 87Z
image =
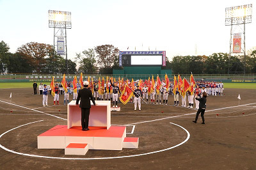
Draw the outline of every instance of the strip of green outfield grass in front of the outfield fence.
M45 84L49 85L50 82ZM33 88L33 82L0 82L0 89L6 88ZM224 88L256 89L256 83L224 82Z

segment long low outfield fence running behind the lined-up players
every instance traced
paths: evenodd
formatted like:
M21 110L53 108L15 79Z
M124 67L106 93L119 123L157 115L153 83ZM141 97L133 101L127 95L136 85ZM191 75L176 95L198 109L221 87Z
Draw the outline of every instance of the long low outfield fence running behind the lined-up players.
M207 81L226 81L226 82L256 82L256 74L193 74L196 80L207 80ZM60 81L62 79L63 75L61 74L37 74L37 73L6 73L6 74L0 74L0 82L31 82L31 81L37 81L37 82L48 82L51 81L52 76L54 76L54 79L56 81ZM68 81L74 79L75 74L67 74L66 79ZM80 74L76 74L77 79L79 79ZM159 77L161 79L164 79L165 74L159 74ZM177 76L177 74L176 74ZM190 74L180 74L182 78L186 77L186 79L189 79ZM88 79L88 77L92 77L95 79L104 79L106 80L106 77L114 77L115 79L124 78L126 79L150 79L152 78L152 74L115 74L115 75L105 75L105 74L83 74L83 79ZM156 79L157 74L154 74L154 79ZM170 79L173 79L173 74L168 75Z

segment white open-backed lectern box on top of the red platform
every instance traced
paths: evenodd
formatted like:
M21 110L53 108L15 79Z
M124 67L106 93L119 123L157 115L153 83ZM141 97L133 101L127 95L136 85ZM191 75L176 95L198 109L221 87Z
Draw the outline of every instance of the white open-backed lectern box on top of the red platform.
M111 102L96 100L97 105L91 101L91 110L89 116L89 127L111 127ZM79 101L80 104L80 101ZM68 104L68 128L74 126L81 127L81 108L76 105L76 100Z

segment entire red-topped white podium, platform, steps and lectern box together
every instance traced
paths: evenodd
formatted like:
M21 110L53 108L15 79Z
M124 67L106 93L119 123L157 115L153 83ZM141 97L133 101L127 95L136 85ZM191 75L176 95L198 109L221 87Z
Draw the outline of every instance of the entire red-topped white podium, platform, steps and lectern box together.
M65 155L85 155L88 150L138 148L138 137L126 137L125 126L111 126L110 101L95 101L90 111L90 130L81 129L81 108L72 100L68 125L56 125L37 136L38 149L65 149Z

